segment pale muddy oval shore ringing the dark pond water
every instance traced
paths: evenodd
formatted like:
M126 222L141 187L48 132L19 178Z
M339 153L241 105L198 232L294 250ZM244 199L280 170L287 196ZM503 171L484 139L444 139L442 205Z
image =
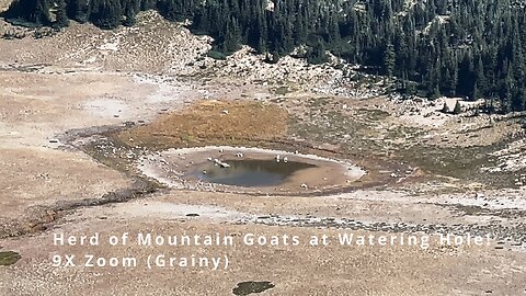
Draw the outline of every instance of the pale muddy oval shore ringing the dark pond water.
M242 157L239 157L239 155ZM274 160L277 156L281 156L282 159L287 158L289 161L299 161L315 167L297 171L275 186L241 187L210 184L199 182L198 179L192 177L193 171L203 168L213 159L228 163L235 159ZM286 164L284 163L284 166ZM365 170L343 160L284 150L228 146L205 146L159 151L140 158L138 168L148 178L158 180L169 187L260 194L274 192L309 193L343 189L366 174Z

